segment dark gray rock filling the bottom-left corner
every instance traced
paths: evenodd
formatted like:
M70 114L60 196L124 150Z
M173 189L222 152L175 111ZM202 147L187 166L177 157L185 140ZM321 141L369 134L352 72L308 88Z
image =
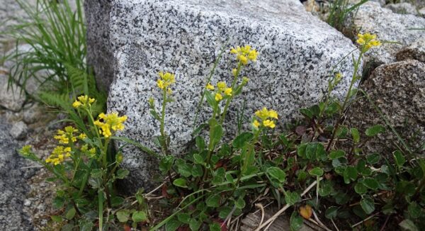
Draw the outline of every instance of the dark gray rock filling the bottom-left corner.
M24 160L18 156L14 142L8 131L11 125L0 118L0 230L33 230L23 212L23 201L26 198L28 185L23 179Z

